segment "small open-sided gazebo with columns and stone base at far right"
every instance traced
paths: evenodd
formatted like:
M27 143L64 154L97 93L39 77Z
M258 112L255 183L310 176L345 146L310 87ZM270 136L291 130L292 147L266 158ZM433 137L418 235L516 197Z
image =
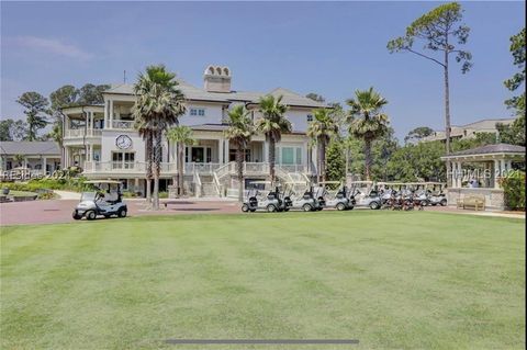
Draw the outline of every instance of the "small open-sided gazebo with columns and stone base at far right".
M500 179L525 169L525 147L508 144L486 145L441 157L447 162L448 205L459 199L481 196L485 208L503 211L505 200Z

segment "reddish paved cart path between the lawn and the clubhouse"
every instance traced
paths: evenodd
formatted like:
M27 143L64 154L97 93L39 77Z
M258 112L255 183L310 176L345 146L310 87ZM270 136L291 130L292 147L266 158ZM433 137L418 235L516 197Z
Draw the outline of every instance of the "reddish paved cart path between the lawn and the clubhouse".
M128 216L242 213L236 201L224 199L161 200L161 210L157 212L148 211L144 200L134 199L125 202L128 206ZM0 226L72 223L75 221L71 213L78 203L78 200L71 199L0 203ZM449 206L429 206L425 211L525 219L525 212L474 212ZM379 211L379 214L382 215L382 212Z

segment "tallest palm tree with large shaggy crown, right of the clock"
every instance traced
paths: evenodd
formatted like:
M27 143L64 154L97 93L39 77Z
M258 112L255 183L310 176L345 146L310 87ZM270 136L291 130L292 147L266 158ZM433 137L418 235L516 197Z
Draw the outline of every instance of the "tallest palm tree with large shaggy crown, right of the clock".
M139 74L134 86L137 101L132 113L136 125L141 125L141 127L149 131L143 134L143 138L147 140L148 135L152 133L153 139L153 151L150 155L147 155L147 163L150 162L153 165L154 210L159 210L162 135L169 126L179 124L179 117L186 111L183 93L177 87L176 75L167 71L162 65L146 67L146 71Z

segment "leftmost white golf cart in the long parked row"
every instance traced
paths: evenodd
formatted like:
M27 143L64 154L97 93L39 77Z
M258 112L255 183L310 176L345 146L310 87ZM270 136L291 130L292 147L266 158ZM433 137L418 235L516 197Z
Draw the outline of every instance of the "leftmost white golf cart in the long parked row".
M253 181L253 189L247 191L247 196L242 205L242 212L256 212L257 210L267 211L269 213L288 211L283 201L283 193L279 188L271 187L270 181Z

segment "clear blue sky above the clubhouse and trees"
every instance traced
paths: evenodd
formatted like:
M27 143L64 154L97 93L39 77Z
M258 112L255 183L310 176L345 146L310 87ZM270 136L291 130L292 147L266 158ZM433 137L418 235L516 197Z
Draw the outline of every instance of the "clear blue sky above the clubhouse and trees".
M386 42L439 2L2 2L1 117L23 117L24 91L128 81L164 63L202 86L209 64L229 66L233 89L284 87L344 102L373 86L388 100L397 137L442 128L442 72ZM451 70L453 124L508 117L502 81L514 67L508 38L524 2L462 2L473 69Z

